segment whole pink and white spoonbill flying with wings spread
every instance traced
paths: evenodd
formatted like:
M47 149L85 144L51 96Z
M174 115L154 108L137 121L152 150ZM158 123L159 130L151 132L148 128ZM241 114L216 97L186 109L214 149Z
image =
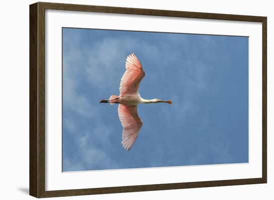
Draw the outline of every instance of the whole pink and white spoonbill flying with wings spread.
M141 98L139 94L139 85L145 73L137 56L132 53L126 59L126 72L120 82L120 95L111 95L109 99L103 99L100 103L118 103L118 115L124 128L122 134L122 146L126 150L130 150L134 145L140 129L142 120L140 119L137 106L140 103L168 103L171 100Z

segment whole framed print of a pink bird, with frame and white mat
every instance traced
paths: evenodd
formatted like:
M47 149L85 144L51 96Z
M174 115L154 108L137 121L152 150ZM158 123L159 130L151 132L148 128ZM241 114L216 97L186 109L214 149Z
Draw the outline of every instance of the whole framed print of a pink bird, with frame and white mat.
M267 17L29 11L31 196L267 183Z

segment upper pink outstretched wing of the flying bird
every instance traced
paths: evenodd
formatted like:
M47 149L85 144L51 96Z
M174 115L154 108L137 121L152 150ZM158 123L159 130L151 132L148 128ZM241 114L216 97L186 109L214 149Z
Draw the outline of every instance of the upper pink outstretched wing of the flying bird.
M126 72L120 82L120 95L137 93L144 75L141 63L132 53L126 60Z

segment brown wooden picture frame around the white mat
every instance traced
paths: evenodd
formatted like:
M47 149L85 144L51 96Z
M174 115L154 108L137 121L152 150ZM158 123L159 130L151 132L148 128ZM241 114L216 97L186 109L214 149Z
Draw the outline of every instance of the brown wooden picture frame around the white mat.
M45 191L45 9L262 22L263 177L255 179ZM29 6L29 48L29 194L31 196L46 198L267 183L267 17L37 2Z

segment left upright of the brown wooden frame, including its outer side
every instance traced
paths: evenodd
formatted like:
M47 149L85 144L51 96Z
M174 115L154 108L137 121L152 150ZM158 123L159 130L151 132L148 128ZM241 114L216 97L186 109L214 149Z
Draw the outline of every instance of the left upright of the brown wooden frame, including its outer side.
M29 194L45 192L44 9L29 6Z

